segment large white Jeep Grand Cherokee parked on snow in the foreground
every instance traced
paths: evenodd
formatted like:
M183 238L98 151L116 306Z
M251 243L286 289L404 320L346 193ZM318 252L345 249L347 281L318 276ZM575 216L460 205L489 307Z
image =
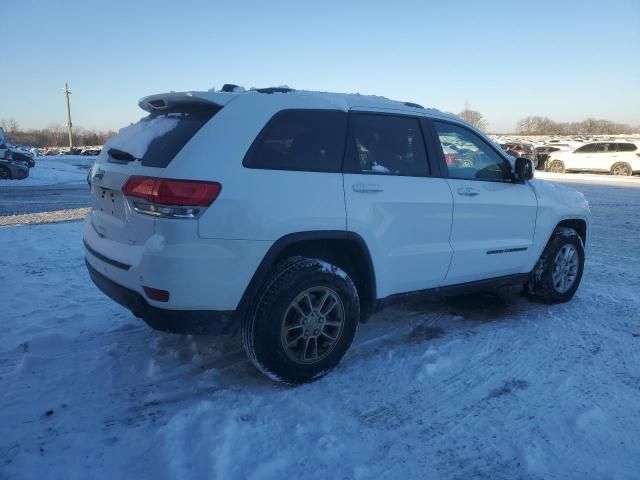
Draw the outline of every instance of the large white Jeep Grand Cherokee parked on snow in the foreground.
M460 119L381 97L237 90L142 99L149 116L92 167L87 268L152 327L241 330L263 373L302 383L409 294L522 285L553 303L578 288L584 197L530 180L528 159Z

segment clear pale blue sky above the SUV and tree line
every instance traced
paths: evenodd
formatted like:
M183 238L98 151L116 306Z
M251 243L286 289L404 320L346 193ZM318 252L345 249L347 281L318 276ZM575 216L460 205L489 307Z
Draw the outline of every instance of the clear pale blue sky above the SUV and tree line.
M0 0L0 118L117 129L140 97L286 84L640 125L640 1Z

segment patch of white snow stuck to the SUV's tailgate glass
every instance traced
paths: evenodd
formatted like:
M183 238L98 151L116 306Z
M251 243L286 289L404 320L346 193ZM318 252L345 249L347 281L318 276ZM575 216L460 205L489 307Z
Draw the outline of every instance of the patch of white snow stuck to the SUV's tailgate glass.
M178 119L176 118L141 119L128 127L121 128L118 135L105 144L104 150L109 151L110 148L115 148L129 153L135 158L142 158L153 140L170 132L177 125Z

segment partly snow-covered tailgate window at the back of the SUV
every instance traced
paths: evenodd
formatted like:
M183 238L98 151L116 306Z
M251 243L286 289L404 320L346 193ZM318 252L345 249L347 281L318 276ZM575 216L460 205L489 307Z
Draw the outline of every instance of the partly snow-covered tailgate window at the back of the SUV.
M155 111L137 124L120 130L110 140L109 161L141 160L146 167L165 168L189 140L222 107L219 105L177 105Z

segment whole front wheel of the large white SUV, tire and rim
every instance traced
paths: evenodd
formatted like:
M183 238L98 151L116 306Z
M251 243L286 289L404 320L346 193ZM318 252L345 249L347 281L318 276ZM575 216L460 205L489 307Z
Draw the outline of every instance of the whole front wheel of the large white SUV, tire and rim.
M584 271L584 244L572 228L556 228L527 285L532 299L562 303L576 293Z

